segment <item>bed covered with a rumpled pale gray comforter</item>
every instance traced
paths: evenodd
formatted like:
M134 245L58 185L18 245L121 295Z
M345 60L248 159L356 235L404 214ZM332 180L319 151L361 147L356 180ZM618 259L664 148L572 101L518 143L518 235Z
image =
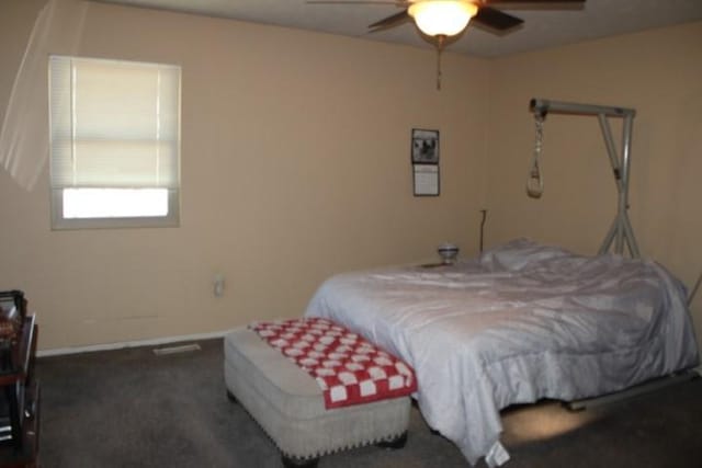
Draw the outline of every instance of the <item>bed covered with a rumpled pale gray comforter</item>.
M519 239L451 266L327 279L307 317L414 366L427 423L475 465L509 459L499 411L619 391L699 364L686 289L652 261Z

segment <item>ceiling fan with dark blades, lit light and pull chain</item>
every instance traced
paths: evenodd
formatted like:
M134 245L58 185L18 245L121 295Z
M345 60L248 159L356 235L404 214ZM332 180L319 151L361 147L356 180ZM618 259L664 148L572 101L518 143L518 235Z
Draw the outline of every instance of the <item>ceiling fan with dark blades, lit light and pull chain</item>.
M461 34L473 20L488 31L507 34L524 21L496 7L561 9L582 5L586 0L307 0L314 4L385 4L403 9L369 25L370 32L399 26L414 20L417 27L437 45L437 89L441 89L441 53L451 36Z

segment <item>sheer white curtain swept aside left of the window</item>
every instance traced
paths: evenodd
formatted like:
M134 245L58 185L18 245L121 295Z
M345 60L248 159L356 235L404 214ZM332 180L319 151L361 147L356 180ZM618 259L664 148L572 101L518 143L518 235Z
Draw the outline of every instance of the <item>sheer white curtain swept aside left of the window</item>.
M88 2L48 0L18 69L0 128L0 165L31 191L48 159L48 55L77 54Z

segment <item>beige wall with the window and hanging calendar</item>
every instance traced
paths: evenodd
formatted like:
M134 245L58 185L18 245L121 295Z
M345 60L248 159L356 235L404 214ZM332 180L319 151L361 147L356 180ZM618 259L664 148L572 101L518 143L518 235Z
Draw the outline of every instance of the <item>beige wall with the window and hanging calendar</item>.
M42 3L0 5L0 116ZM0 172L0 285L41 349L298 316L332 273L477 250L487 61L446 54L437 92L430 49L102 3L80 54L182 65L182 224L52 231L46 171L29 193ZM440 197L411 195L412 127L441 132Z

